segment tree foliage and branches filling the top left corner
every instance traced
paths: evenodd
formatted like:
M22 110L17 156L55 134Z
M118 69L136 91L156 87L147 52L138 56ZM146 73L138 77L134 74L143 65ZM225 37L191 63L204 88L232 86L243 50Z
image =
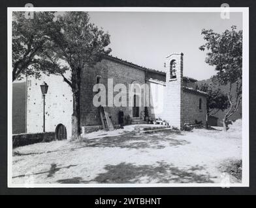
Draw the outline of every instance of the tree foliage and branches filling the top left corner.
M40 77L33 68L48 42L48 28L54 12L35 12L33 19L26 19L25 12L13 12L12 21L12 81L23 75Z

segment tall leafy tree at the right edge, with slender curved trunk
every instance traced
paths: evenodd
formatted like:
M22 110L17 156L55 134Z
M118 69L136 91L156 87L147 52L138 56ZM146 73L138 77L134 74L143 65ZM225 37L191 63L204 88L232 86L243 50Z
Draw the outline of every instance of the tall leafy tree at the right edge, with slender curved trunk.
M238 110L242 101L242 31L236 31L236 26L232 26L231 31L226 30L221 34L212 29L203 29L202 34L206 44L199 49L208 50L205 61L210 66L215 66L217 71L212 80L217 85L229 86L229 108L223 118L223 129L227 131L227 119ZM232 96L231 91L236 93Z

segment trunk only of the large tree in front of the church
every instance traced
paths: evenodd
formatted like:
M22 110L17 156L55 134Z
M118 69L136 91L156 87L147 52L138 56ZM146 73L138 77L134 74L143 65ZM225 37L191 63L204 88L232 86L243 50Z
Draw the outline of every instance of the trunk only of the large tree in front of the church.
M80 69L76 69L72 74L72 92L73 92L73 114L72 114L72 139L81 138L80 124Z

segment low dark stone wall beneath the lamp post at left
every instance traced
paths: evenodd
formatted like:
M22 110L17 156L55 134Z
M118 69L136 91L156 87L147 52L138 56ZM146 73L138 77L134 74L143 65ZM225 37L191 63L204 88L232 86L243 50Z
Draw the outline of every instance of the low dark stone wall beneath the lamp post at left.
M55 132L12 135L12 147L25 146L39 142L56 140Z

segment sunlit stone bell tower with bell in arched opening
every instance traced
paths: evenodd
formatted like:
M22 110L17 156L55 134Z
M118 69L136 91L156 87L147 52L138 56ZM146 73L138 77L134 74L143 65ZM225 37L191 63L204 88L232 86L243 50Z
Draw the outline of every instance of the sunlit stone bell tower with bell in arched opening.
M181 128L181 96L183 81L183 53L172 53L165 60L166 86L163 119L172 127Z

